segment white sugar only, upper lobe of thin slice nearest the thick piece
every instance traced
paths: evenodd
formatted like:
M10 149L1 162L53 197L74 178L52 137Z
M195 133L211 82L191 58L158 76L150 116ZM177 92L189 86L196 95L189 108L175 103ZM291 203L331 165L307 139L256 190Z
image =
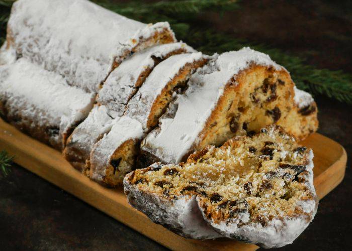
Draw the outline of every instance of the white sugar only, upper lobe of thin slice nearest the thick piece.
M202 58L202 53L174 55L158 64L150 73L145 83L128 102L125 115L137 119L148 131L147 122L151 107L161 90L172 80L187 63L194 63Z

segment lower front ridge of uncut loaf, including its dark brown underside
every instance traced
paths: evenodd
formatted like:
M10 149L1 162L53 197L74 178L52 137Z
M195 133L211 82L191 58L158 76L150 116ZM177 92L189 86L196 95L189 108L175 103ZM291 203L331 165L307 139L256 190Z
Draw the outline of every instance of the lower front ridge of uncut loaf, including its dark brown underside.
M62 150L92 109L94 95L21 58L0 66L0 113L32 137Z

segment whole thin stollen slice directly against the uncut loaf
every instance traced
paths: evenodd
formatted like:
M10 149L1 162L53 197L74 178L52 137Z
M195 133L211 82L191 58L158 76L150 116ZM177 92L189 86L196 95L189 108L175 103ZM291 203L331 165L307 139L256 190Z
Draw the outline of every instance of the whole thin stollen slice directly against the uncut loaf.
M194 49L179 42L149 47L126 58L99 90L98 105L68 138L63 151L65 159L76 169L84 171L94 144L110 132L152 69L171 55L187 52L194 52Z

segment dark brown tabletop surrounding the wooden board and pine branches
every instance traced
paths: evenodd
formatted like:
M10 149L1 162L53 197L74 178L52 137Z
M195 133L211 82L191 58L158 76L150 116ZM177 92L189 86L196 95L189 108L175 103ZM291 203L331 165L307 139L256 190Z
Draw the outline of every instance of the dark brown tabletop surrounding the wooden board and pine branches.
M321 68L352 69L352 4L327 1L249 1L240 11L200 17L204 25L235 37L302 55ZM187 41L186 41L187 42ZM352 106L323 96L319 133L348 155L345 177L324 197L313 222L286 250L352 250ZM326 153L328 154L328 152ZM0 176L0 249L165 249L24 168Z

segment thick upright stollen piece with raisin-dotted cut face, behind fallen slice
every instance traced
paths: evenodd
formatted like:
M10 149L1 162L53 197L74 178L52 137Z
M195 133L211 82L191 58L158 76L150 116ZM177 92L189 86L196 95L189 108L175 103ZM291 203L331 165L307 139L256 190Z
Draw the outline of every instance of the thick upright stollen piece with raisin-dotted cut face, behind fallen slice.
M251 135L272 123L298 139L317 129L314 102L310 120L300 119L287 70L249 48L221 54L192 75L188 86L141 143L141 167L185 161L195 150ZM309 123L309 131L301 130L301 123Z

